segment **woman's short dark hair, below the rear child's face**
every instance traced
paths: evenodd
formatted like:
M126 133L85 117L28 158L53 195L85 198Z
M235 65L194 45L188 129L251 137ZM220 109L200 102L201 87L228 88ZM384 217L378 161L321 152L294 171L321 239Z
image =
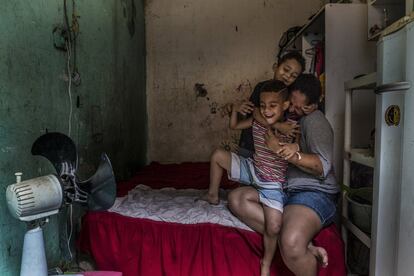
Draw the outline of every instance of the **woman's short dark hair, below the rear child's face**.
M308 98L308 104L318 104L321 96L321 83L312 74L301 74L289 87L290 92L299 90Z

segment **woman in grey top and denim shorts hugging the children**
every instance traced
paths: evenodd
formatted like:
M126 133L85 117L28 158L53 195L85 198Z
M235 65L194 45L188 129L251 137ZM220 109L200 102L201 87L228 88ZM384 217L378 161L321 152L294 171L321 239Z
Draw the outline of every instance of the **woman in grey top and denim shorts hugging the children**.
M283 212L280 250L287 267L296 275L316 275L315 255L327 263L323 249L309 246L313 237L332 223L336 213L339 187L333 170L333 131L319 110L304 116L304 107L317 103L321 87L313 75L302 74L291 87L291 110L300 119L301 141L297 154L277 153L288 159L287 202ZM265 137L267 146L276 148L272 134ZM258 193L251 187L240 187L229 194L231 211L249 227L264 231L264 214Z

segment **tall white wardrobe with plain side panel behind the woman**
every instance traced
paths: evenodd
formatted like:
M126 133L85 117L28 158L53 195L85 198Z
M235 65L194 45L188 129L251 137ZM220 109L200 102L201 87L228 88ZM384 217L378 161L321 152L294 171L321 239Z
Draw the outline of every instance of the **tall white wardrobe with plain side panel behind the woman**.
M375 70L375 42L367 41L367 4L334 3L322 7L283 50L306 51L315 40L324 41L325 116L334 130L334 167L342 179L345 113L344 82ZM305 73L309 72L307 58Z

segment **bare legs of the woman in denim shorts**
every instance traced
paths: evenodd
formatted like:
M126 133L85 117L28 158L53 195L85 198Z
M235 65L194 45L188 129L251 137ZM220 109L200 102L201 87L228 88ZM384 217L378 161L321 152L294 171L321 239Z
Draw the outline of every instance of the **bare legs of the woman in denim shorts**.
M229 208L235 216L256 232L264 233L264 212L256 189L253 187L234 189L228 195L228 201ZM284 209L282 218L283 226L279 238L282 244L282 256L287 266L292 267L291 270L298 273L297 275L316 275L317 259L322 266L328 263L325 249L313 246L311 243L313 237L322 228L318 215L305 206L288 205ZM297 269L296 263L298 263ZM310 269L307 269L307 264ZM300 274L302 271L303 274Z

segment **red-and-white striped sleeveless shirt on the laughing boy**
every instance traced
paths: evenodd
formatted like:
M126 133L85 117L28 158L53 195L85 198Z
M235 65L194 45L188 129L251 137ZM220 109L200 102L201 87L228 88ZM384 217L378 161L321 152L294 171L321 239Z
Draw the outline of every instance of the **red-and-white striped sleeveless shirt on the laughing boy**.
M267 132L267 126L253 120L253 141L255 153L253 163L256 169L256 175L263 181L286 182L286 173L288 162L278 157L265 144L264 135ZM281 142L291 142L292 139L286 135L278 133Z

